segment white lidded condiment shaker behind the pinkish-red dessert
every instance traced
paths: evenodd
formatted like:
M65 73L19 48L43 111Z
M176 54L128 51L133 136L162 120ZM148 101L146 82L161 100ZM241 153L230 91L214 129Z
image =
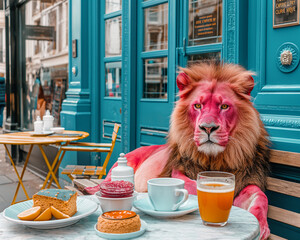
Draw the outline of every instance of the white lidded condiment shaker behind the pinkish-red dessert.
M134 184L134 171L133 168L127 165L127 158L124 153L120 154L118 158L118 166L111 171L112 181L128 181Z

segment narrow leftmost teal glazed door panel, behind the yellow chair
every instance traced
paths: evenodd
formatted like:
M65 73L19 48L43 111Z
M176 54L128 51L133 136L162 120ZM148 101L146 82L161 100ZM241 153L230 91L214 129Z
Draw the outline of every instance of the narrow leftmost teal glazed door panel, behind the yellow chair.
M100 140L110 142L114 124L122 116L122 1L101 1L100 32ZM120 128L107 169L121 152ZM101 164L106 154L101 154Z

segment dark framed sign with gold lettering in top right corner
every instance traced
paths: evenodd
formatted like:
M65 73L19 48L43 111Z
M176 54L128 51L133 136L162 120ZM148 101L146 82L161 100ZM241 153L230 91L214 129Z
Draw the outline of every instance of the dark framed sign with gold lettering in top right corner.
M273 28L299 24L300 0L273 0Z

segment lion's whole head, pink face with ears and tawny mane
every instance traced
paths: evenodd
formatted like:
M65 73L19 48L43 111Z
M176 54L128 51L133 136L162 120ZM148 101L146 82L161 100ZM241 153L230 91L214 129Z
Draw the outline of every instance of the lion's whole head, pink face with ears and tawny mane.
M253 155L262 130L250 102L251 74L230 64L183 69L176 80L180 99L171 117L169 144L189 157L197 157L197 153Z

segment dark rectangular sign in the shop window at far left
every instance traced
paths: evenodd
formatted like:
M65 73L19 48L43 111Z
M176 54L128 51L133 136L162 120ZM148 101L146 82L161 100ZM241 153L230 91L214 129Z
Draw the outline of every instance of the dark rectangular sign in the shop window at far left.
M55 29L51 26L26 25L25 39L40 41L55 41Z

